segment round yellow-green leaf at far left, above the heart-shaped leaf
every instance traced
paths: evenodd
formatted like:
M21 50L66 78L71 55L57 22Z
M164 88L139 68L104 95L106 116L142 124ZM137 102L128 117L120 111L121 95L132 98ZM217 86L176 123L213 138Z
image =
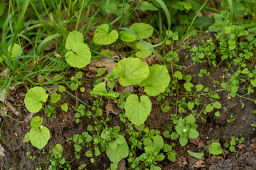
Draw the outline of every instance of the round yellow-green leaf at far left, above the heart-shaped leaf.
M47 98L48 94L46 94L46 91L42 87L36 86L28 90L24 103L28 111L37 113L42 108L41 102L46 102Z

